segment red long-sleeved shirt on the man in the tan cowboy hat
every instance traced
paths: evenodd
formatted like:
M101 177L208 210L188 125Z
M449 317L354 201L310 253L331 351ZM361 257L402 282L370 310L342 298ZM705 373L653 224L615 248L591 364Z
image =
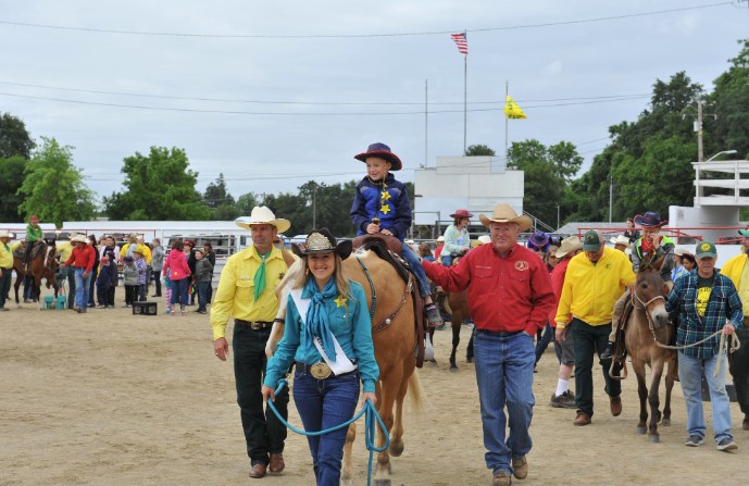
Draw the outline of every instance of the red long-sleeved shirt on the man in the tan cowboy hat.
M482 245L455 266L423 265L426 275L448 291L469 287L469 311L478 329L535 335L557 309L546 263L520 245L504 257L492 245Z

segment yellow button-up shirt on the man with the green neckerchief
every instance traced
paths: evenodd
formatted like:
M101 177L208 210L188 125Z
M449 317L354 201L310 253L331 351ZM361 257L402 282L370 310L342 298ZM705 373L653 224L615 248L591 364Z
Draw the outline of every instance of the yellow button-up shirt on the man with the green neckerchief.
M219 289L211 306L213 339L224 337L230 317L244 321L270 322L278 312L278 299L274 292L288 270L280 250L273 248L265 260L265 290L254 301L254 274L262 263L254 246L250 246L226 260L221 271Z

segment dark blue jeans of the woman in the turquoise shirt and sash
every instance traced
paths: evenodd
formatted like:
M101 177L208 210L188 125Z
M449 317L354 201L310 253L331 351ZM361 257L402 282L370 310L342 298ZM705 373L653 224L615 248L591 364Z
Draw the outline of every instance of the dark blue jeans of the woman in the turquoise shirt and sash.
M359 400L359 373L317 379L304 371L294 374L294 402L308 432L342 424L353 416ZM348 427L309 436L312 465L319 485L338 485Z

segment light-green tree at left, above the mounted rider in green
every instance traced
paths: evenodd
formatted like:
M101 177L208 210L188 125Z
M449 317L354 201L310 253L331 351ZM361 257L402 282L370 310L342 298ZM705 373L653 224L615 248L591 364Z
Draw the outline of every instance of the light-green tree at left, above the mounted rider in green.
M18 194L25 196L18 211L24 220L38 214L41 221L86 221L96 213L93 192L84 175L73 165L73 148L54 138L41 137L42 146L32 153Z

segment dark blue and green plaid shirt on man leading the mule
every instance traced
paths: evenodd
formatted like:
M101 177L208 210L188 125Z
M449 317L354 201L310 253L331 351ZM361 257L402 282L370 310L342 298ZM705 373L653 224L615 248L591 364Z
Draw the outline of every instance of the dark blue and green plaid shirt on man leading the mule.
M671 322L676 323L676 346L691 345L723 328L726 320L738 329L742 327L744 312L741 299L738 297L734 283L725 275L714 271L715 281L710 292L710 299L704 310L704 316L697 313L697 287L699 276L697 271L679 278L669 294L665 309L671 315ZM692 348L682 349L686 356L709 359L719 351L721 336L715 335L708 341Z

